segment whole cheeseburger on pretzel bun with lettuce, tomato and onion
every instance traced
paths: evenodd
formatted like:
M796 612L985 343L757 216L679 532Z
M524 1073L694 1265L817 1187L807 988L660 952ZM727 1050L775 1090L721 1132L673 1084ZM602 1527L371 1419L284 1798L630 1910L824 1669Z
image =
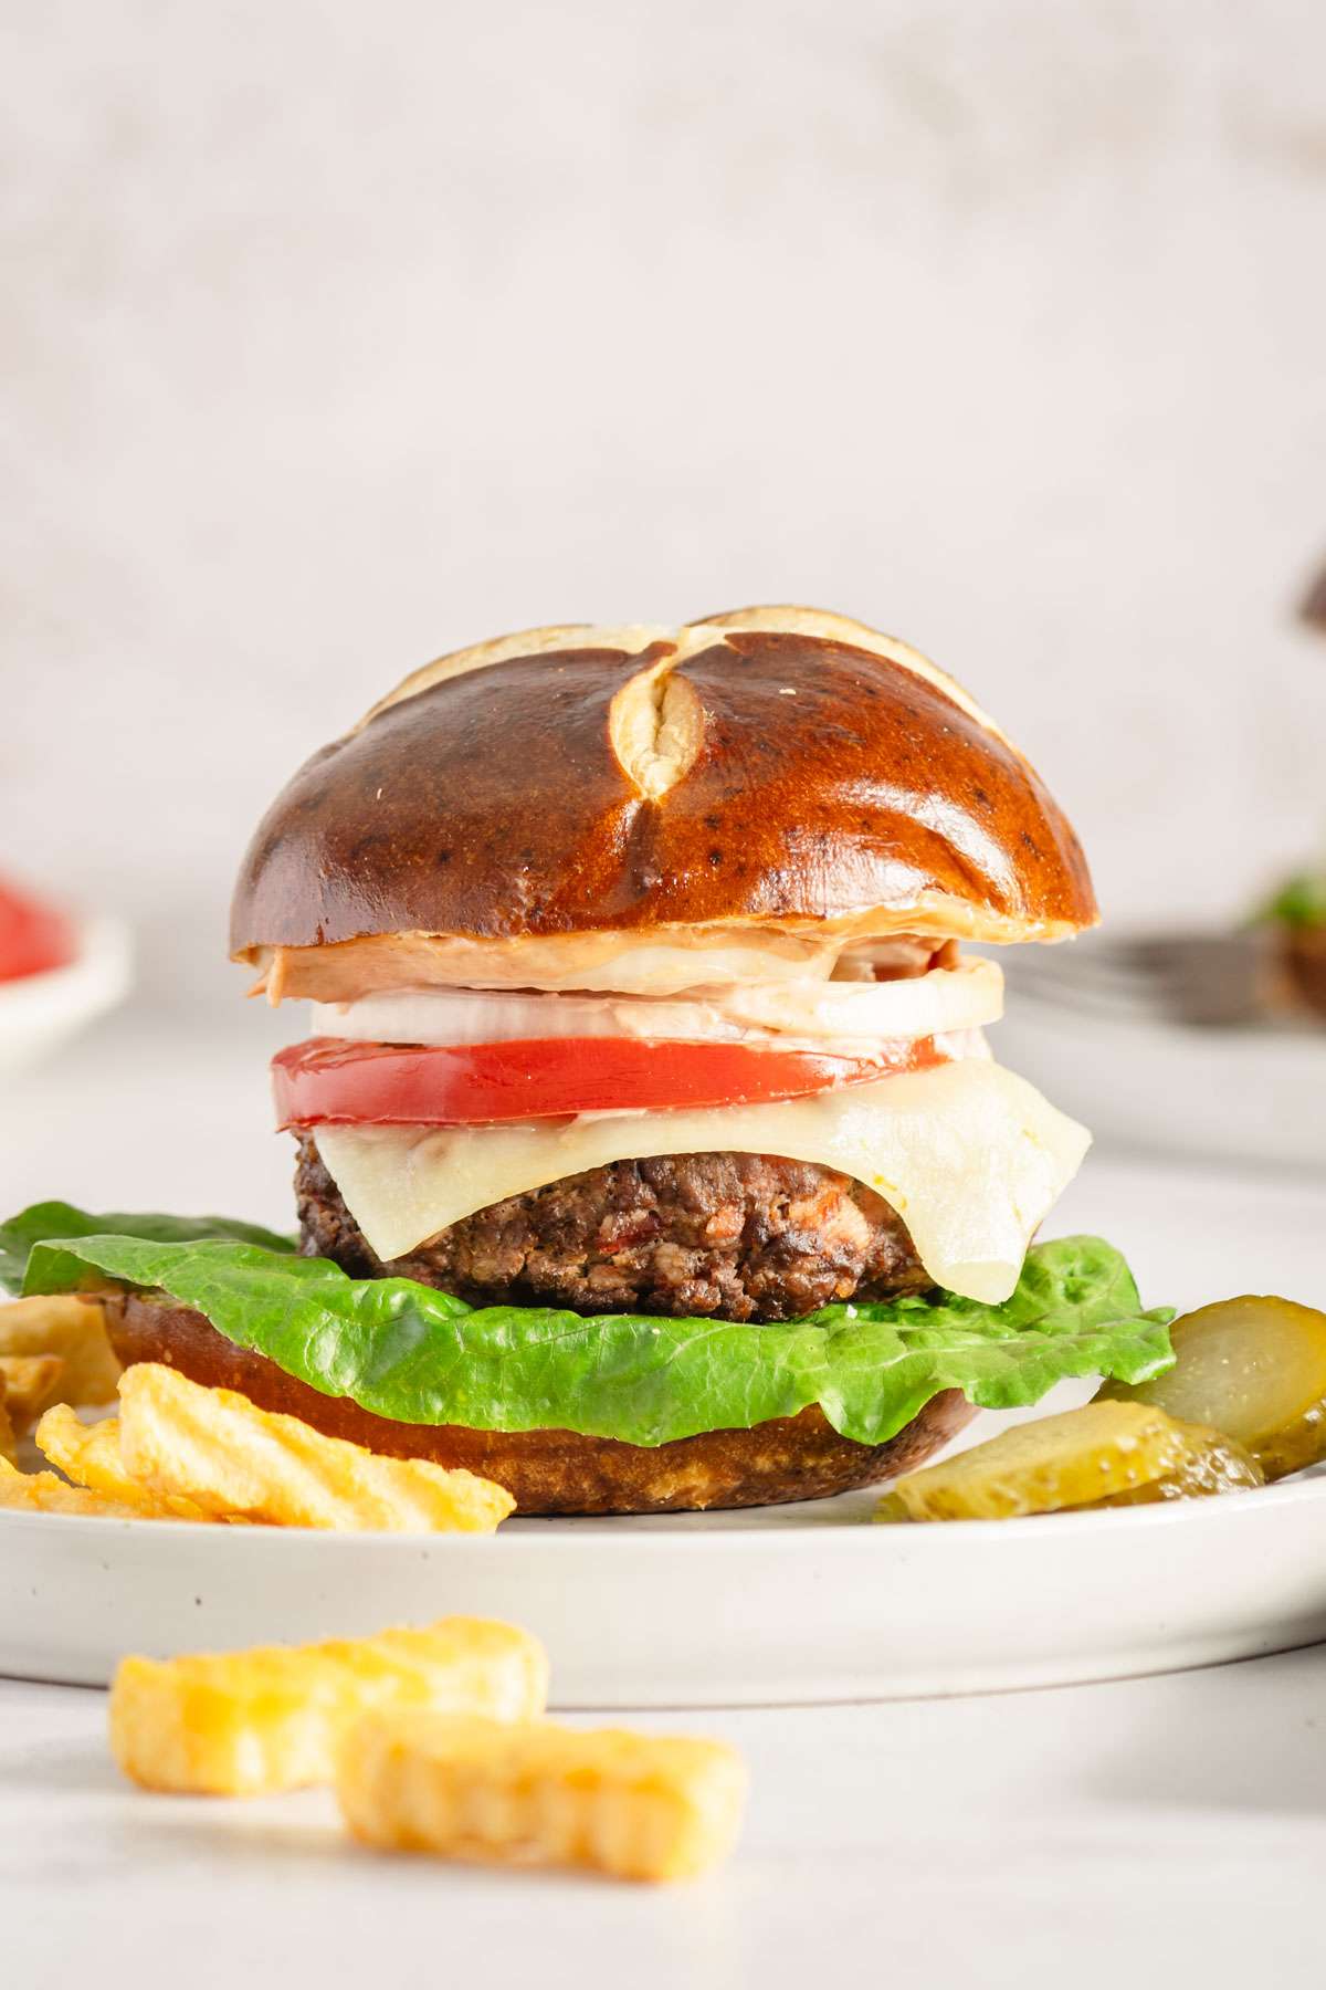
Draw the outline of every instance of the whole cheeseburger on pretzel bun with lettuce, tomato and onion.
M44 1204L10 1250L28 1290L111 1282L121 1359L521 1512L883 1481L978 1405L1167 1361L1117 1252L1034 1244L1087 1134L994 1061L964 951L1095 917L1026 758L861 623L483 643L241 866L231 951L310 1005L272 1063L298 1238Z

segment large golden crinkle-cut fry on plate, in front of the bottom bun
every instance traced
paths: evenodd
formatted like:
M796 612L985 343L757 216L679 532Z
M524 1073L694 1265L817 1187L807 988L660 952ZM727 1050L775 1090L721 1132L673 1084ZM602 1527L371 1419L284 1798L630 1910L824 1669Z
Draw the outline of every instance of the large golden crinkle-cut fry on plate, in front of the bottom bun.
M161 1496L278 1526L491 1534L515 1504L473 1473L378 1457L155 1361L121 1377L119 1455Z

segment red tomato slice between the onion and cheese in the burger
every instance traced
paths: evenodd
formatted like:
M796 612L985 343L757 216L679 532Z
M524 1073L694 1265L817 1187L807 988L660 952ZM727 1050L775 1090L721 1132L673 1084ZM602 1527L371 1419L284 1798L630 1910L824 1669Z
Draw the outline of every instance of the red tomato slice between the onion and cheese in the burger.
M881 1043L871 1057L747 1043L539 1037L398 1045L310 1037L272 1059L284 1126L471 1126L575 1112L732 1106L799 1098L944 1063L932 1037Z

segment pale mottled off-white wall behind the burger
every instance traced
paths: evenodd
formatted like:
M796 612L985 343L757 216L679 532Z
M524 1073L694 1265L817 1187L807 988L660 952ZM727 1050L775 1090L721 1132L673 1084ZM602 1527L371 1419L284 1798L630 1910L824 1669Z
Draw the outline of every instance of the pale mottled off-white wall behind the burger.
M1326 8L8 0L0 860L225 1007L290 768L443 649L841 607L1105 909L1326 818Z

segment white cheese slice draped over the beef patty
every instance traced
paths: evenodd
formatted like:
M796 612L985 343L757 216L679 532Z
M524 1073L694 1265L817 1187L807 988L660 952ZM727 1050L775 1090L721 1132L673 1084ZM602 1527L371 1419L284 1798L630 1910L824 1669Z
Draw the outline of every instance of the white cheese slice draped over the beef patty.
M781 1154L889 1202L936 1286L998 1303L1091 1136L984 1059L779 1104L598 1112L515 1126L318 1126L318 1152L380 1258L475 1210L646 1154Z

